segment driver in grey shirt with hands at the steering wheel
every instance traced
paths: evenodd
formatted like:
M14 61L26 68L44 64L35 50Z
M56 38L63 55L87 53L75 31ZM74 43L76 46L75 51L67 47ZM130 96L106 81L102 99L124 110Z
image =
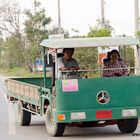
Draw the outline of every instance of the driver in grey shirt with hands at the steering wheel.
M79 70L79 65L76 59L72 58L74 54L74 48L64 48L63 49L63 57L58 58L58 70L66 71L66 70Z

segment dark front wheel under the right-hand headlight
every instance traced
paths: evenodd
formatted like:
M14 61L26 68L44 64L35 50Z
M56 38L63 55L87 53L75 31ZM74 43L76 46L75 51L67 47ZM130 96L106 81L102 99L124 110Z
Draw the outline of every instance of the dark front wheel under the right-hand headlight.
M138 118L118 120L118 128L123 133L132 133L138 125Z

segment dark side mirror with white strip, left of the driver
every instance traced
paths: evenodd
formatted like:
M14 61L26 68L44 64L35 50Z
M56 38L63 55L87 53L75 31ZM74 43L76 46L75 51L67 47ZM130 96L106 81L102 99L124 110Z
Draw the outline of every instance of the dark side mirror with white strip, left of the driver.
M44 63L46 67L52 67L53 66L53 56L52 54L46 54L44 56Z

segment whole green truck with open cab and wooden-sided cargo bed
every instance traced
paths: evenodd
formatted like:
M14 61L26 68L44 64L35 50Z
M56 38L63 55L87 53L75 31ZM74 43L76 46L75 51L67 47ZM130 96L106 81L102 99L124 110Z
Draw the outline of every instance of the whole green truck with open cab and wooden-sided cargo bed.
M139 41L133 37L45 39L42 46L42 78L9 78L7 96L18 102L19 123L28 126L31 115L44 116L51 136L62 136L65 127L102 127L117 124L123 133L132 133L140 117ZM63 48L132 47L134 75L125 77L59 76L57 60ZM51 49L50 49L51 48ZM49 51L48 51L49 50ZM53 53L52 53L53 52ZM88 55L88 54L87 54ZM52 69L50 76L47 68ZM129 68L130 69L130 68ZM99 73L102 69L99 68ZM101 97L101 99L99 98Z

